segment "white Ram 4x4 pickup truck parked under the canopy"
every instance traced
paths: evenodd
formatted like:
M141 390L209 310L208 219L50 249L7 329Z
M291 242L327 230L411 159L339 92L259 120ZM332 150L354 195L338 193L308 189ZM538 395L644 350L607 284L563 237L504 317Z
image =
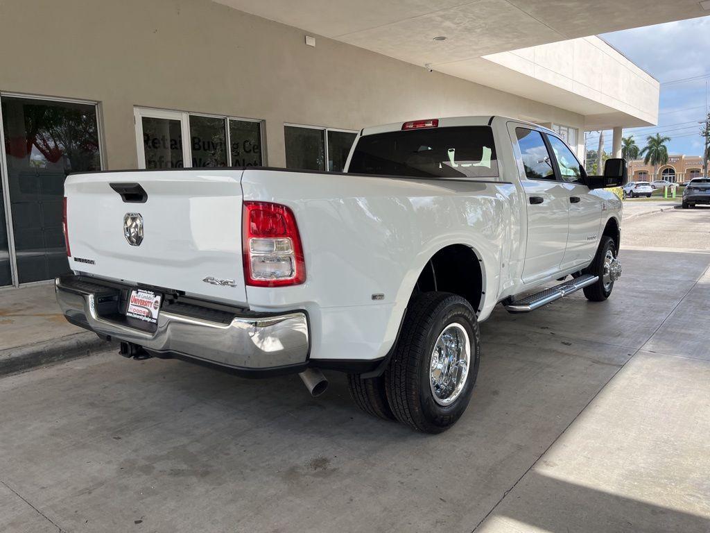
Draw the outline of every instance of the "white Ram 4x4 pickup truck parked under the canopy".
M437 433L469 403L498 303L611 294L621 201L604 188L625 172L587 176L535 124L459 117L365 128L344 173L73 174L57 297L126 357L297 372L314 395L339 370L364 411Z

